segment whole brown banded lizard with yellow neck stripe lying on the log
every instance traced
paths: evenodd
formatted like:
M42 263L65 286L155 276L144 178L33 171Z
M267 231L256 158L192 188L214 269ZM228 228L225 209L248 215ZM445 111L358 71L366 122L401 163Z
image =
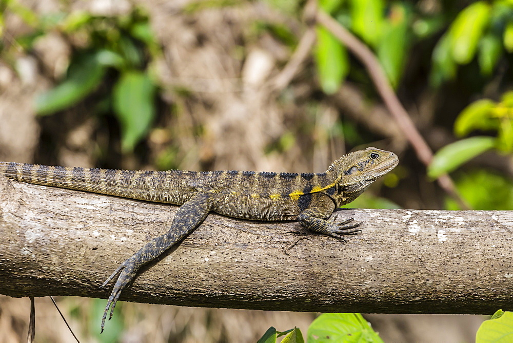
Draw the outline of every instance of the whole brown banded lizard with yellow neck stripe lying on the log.
M297 220L309 230L345 240L361 223L333 223L334 209L356 199L399 162L389 151L367 148L334 161L324 173L189 172L114 170L0 162L0 175L28 183L137 200L180 205L169 231L125 260L104 282L117 276L102 318L102 331L117 299L142 265L159 257L198 227L213 211L250 220Z

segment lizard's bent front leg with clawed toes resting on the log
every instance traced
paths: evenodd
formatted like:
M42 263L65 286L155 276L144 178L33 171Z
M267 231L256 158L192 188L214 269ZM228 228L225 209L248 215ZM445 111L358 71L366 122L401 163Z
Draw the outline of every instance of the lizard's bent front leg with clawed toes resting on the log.
M346 242L341 235L356 235L362 230L351 230L360 226L361 223L350 222L353 218L345 220L343 222L334 223L332 220L325 220L333 213L335 204L327 196L320 195L312 201L311 207L306 208L298 216L298 221L301 225L308 228L313 232L318 232L323 235L331 236Z

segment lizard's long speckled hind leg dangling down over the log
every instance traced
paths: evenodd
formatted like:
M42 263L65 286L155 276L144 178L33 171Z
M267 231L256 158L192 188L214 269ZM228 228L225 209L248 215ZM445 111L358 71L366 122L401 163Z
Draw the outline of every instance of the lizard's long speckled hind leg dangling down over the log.
M114 313L114 307L116 306L117 299L119 299L121 292L135 278L137 270L139 270L139 268L144 264L162 255L162 253L168 250L171 246L181 241L185 236L194 231L194 229L207 217L212 206L213 201L208 195L201 193L194 194L187 202L180 206L173 218L171 228L167 233L153 238L151 241L146 243L146 245L138 252L121 263L114 273L112 273L112 275L109 276L109 278L102 284L101 287L104 287L111 279L119 274L103 313L102 332L105 326L105 319L107 318L109 307L110 320Z

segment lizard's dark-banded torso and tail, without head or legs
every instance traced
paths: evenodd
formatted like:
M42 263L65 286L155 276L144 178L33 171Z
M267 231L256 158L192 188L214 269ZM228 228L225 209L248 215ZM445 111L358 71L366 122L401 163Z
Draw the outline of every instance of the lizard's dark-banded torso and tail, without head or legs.
M0 174L17 181L176 205L205 193L220 214L260 220L294 219L310 205L311 193L324 192L334 182L334 176L326 173L155 172L13 162L0 162Z

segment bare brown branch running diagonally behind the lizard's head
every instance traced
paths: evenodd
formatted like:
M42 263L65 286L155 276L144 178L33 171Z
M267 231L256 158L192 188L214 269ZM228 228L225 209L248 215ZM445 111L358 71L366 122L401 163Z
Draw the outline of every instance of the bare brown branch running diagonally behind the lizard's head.
M419 160L428 166L433 159L431 148L411 121L408 112L406 112L406 109L404 109L397 98L396 93L394 93L376 56L356 36L322 10L317 11L315 18L319 24L336 36L363 63L393 119L401 128L413 149L415 149ZM439 176L437 180L445 192L458 201L462 208L469 208L468 204L458 194L448 174Z

